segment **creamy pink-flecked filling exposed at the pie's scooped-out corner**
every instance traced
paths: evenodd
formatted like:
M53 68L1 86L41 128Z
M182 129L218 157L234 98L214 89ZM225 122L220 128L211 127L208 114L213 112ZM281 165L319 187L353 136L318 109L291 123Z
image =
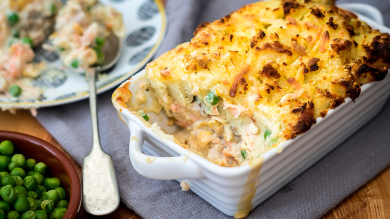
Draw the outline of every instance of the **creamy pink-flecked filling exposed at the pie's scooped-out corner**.
M248 163L276 142L277 138L270 128L261 121L241 115L240 106L224 104L223 100L219 100L218 104L210 107L201 96L196 95L190 103L180 104L167 92L155 92L150 83L145 83L142 78L146 79L145 76L140 77L139 81L142 82L130 89L133 98L127 104L131 110L142 110L148 115L162 112L166 120L151 118L149 122L157 124L188 149L218 165L239 166ZM233 119L237 113L239 119ZM172 132L169 130L171 126L179 128Z

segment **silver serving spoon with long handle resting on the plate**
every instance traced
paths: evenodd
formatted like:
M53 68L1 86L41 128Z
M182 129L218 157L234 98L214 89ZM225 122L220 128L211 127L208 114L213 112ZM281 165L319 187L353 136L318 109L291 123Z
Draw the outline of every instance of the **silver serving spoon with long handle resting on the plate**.
M92 122L92 149L82 159L82 206L93 215L113 212L119 205L119 191L115 170L110 155L101 149L97 109L96 73L112 67L119 58L122 42L111 34L101 48L105 53L104 63L88 68L85 76L89 82L89 107Z

